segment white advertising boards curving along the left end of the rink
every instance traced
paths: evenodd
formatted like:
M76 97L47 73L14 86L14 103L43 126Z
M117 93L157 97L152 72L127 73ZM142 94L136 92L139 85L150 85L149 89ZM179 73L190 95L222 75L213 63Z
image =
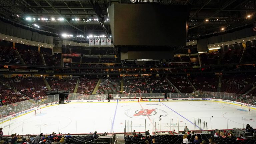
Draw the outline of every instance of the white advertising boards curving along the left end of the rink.
M35 111L37 109L40 109L40 108L44 108L44 107L48 107L48 106L53 106L53 105L58 105L58 104L59 104L59 102L51 102L51 103L43 104L43 105L40 105L40 106L37 106L37 107L32 107L30 109L27 109L27 110L24 110L24 111L20 111L20 112L17 112L15 114L6 116L6 117L0 119L0 122L4 122L6 120L10 120L12 118L15 118L15 117L18 117L18 116L22 116L24 114L28 114L28 113L33 112L33 111Z

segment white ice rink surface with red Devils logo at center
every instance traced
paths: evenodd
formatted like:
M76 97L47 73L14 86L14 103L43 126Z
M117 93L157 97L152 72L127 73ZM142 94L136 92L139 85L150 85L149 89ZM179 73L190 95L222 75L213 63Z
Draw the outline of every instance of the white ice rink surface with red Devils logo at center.
M152 128L153 131L160 130L160 115L163 115L161 131L172 130L171 119L175 131L183 130L185 126L189 130L198 130L198 118L201 119L202 129L206 128L206 123L203 122L207 122L208 129L243 128L246 124L256 128L255 110L241 110L241 106L218 102L74 103L50 106L41 110L36 116L35 112L31 112L2 123L4 135L40 132L124 132L125 121L128 124L128 132L149 129L151 133Z

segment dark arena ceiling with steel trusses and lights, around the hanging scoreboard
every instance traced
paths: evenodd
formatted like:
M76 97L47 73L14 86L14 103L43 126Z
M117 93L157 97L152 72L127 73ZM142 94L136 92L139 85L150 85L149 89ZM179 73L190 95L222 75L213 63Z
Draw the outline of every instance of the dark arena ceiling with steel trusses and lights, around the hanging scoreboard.
M1 19L55 34L105 34L101 13L111 34L107 7L130 0L1 0ZM159 4L159 3L158 3ZM256 0L169 0L166 5L191 5L188 39L228 31L255 22ZM96 14L97 11L97 14ZM27 18L27 20L26 20ZM155 21L152 19L152 21ZM36 25L35 25L36 24ZM39 28L38 28L39 27Z

